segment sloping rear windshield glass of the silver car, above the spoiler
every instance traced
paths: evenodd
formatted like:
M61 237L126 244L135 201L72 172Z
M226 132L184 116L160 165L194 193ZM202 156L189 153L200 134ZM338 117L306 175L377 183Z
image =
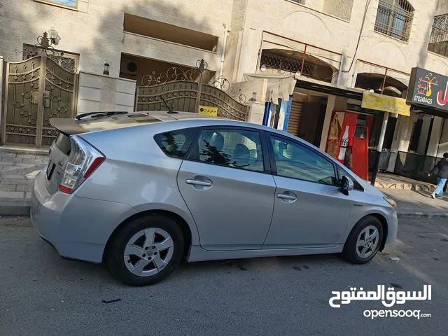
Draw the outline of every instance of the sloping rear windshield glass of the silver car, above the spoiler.
M141 124L161 123L162 120L143 113L129 113L113 116L93 116L78 120L78 125L89 132L111 130L114 128L131 127Z

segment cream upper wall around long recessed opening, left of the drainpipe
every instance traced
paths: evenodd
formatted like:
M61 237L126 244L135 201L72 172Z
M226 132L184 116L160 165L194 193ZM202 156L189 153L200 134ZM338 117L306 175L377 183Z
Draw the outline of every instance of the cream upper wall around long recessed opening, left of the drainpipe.
M111 76L119 75L121 52L189 66L204 58L209 69L218 71L223 22L230 25L232 14L232 0L79 0L78 10L34 0L1 3L3 57L15 55L14 50L22 50L23 43L34 45L37 36L55 27L61 36L56 48L80 54L80 71L101 74L107 62ZM218 36L217 52L125 34L124 13Z

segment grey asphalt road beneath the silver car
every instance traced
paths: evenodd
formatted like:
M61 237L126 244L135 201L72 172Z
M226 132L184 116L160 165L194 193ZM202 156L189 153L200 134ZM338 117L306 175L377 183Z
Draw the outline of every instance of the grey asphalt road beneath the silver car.
M102 265L60 258L29 219L3 218L0 335L447 335L448 221L402 220L398 239L368 265L337 255L183 263L162 283L132 288ZM431 317L372 320L363 311L381 302L328 304L332 290L379 284L432 285L432 300L391 308Z

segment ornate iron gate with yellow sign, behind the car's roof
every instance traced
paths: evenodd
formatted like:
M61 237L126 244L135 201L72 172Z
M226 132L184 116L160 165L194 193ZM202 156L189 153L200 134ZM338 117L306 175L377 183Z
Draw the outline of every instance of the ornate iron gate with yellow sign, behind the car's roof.
M197 113L199 106L204 105L217 107L218 117L245 121L248 106L244 94L232 90L225 78L202 83L202 78L209 78L207 71L207 62L203 59L193 69L174 66L159 76L153 71L137 85L135 110L166 110L166 102L174 111ZM197 80L193 78L196 75Z

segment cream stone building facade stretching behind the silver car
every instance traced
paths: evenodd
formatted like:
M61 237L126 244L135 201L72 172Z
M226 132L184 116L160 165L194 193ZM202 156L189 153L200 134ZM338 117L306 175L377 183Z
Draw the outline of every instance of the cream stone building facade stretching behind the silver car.
M391 113L385 125L384 111L362 106L363 92L405 98L416 66L448 74L447 1L2 2L3 126L15 125L7 117L18 113L18 107L5 106L17 100L5 93L12 80L6 63L22 61L44 31L57 31L52 47L69 59L76 73L70 96L73 113L137 109L136 87L148 78L160 84L169 69L186 73L204 59L207 76L193 71L188 79L209 83L219 78L221 85L238 87L247 100L255 101L247 118L257 123L262 122L265 103L277 103L280 97L269 89L272 78L292 76L291 97L281 96L290 100L285 128L323 150L330 151L335 111L356 115L355 132L368 128L368 147L384 148L382 169L389 172L394 172L397 158L403 160L400 153L412 153L413 169L423 169L421 160L426 169L432 163L428 157L440 157L447 147L443 113L412 107L409 116ZM186 78L176 72L174 79ZM36 109L42 106L45 102ZM23 112L23 106L20 109ZM55 114L48 109L49 116ZM45 122L45 116L41 120ZM384 142L379 144L383 126ZM5 139L12 128L2 130Z

